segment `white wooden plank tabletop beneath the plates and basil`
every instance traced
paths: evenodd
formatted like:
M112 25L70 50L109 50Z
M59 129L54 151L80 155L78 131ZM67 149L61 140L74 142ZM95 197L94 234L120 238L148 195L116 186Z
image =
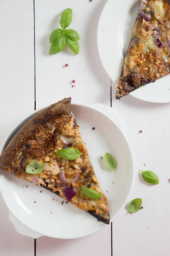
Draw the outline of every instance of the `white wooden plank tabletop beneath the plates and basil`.
M122 209L113 221L112 234L109 225L82 239L42 237L34 241L17 234L0 197L0 256L170 255L170 105L142 102L131 96L115 99L115 85L102 67L96 44L105 3L106 0L0 1L0 148L26 113L34 111L35 99L37 109L68 96L76 103L110 106L112 88L112 107L124 122L136 165L129 201L142 198L144 208L126 216L126 209ZM80 52L74 56L66 49L50 56L48 37L59 27L60 13L66 8L73 10L70 28L79 32ZM68 67L64 67L66 63ZM76 83L72 88L73 79ZM155 172L159 185L145 184L139 169Z

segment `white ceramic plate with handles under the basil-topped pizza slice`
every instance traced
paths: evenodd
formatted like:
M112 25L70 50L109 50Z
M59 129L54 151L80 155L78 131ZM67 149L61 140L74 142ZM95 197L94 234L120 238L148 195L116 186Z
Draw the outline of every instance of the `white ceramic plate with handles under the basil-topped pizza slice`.
M72 107L77 122L81 125L80 132L87 143L96 176L108 197L112 221L125 205L134 176L133 157L123 133L122 121L116 111L101 104ZM96 129L92 130L92 127ZM106 152L113 154L117 160L114 174L105 168L100 158ZM69 203L62 205L62 199L57 195L4 171L1 171L0 175L0 189L15 218L40 236L74 239L87 236L106 226Z

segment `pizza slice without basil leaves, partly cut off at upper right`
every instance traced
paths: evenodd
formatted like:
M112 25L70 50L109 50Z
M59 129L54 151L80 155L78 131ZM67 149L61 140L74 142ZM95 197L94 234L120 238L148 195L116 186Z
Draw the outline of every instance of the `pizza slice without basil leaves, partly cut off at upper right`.
M142 0L116 88L116 99L169 73L170 1Z

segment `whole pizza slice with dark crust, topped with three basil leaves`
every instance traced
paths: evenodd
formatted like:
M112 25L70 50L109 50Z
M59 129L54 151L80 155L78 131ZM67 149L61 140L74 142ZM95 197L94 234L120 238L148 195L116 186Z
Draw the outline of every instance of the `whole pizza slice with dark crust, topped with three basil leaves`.
M45 108L23 125L1 154L0 168L109 224L108 200L79 133L71 98Z

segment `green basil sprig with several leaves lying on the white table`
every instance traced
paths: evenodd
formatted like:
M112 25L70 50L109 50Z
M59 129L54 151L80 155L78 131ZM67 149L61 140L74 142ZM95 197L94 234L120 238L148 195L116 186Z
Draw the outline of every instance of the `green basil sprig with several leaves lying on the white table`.
M61 52L67 42L68 47L76 54L79 53L79 34L73 29L66 29L70 26L72 21L72 10L70 8L65 9L62 12L61 19L59 21L61 29L55 29L51 32L49 37L50 40L50 51L49 54L56 54Z

